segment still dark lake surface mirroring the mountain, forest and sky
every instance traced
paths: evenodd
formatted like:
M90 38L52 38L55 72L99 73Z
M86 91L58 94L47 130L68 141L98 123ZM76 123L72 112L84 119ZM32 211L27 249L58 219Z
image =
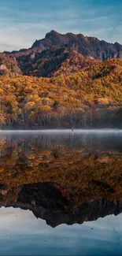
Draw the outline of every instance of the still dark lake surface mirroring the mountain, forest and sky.
M122 254L122 132L0 132L0 255Z

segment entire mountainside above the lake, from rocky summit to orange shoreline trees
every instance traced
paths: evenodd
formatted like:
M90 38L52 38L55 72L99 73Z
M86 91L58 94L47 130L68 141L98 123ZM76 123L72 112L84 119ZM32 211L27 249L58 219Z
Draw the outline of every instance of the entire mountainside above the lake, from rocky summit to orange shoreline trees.
M121 128L122 46L103 42L53 31L0 54L0 128Z

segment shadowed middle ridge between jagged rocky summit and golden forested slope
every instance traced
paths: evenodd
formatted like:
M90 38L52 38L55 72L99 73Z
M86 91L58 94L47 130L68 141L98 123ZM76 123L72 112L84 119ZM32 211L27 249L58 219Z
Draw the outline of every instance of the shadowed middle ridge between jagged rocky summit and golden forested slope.
M87 66L97 63L91 58L84 58L76 50L65 46L52 46L41 53L16 55L21 72L26 76L57 76L61 73L77 72Z

